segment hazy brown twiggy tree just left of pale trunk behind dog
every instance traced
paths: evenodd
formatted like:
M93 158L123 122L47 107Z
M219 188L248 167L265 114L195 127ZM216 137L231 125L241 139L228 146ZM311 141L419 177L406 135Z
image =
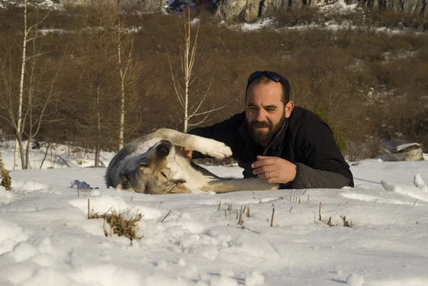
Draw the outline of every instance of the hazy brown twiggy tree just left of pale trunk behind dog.
M100 166L101 143L112 138L117 116L118 94L121 93L118 71L118 46L116 33L116 5L99 0L84 6L84 19L88 29L78 35L76 48L77 68L81 77L77 83L81 99L73 103L82 142L95 149L94 167ZM123 78L124 79L124 78ZM106 113L105 111L109 111ZM116 124L117 126L117 124ZM79 139L79 138L77 138ZM117 142L117 141L116 141Z

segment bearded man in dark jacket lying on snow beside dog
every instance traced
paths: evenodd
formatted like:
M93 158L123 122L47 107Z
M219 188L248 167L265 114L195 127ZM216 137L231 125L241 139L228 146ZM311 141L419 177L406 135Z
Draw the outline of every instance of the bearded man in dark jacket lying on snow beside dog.
M353 187L330 128L315 113L295 106L290 89L280 74L255 71L248 78L245 112L190 133L228 145L244 178L258 176L280 188Z

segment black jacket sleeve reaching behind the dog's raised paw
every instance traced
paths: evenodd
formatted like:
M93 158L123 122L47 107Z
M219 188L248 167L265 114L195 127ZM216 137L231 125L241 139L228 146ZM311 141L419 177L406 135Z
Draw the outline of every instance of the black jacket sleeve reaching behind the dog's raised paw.
M215 123L213 126L205 126L194 128L189 131L189 134L196 136L214 139L215 141L220 141L228 145L233 153L234 152L234 143L235 136L238 133L238 128L243 123L243 113L235 114L231 118ZM192 158L206 158L206 155L203 155L199 152L193 152Z

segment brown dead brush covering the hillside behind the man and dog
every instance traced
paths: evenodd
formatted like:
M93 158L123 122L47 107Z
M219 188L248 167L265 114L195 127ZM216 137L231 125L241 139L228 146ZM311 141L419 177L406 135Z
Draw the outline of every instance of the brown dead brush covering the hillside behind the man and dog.
M325 23L325 19L318 19L319 14L311 9L283 13L283 21L287 21L284 26L317 21ZM3 84L8 78L19 78L20 50L19 46L14 46L19 41L19 34L14 31L21 24L21 10L5 10L0 11L0 14L0 51L8 51L7 55L0 54L0 67L7 71L0 73L1 101L2 96L7 96L2 94L2 91L6 91ZM322 118L335 131L335 138L338 143L341 142L342 151L348 159L382 155L384 141L415 141L422 143L426 151L427 33L416 34L404 30L385 33L365 28L338 31L263 29L244 33L219 25L209 15L204 16L204 21L200 22L198 53L201 58L205 58L204 64L209 66L210 74L214 75L210 93L215 96L207 98L201 108L205 110L229 103L225 108L213 112L210 121L204 124L213 124L242 111L248 75L255 70L270 69L280 71L289 78L292 84L291 97L297 106L322 114ZM342 20L337 21L355 17L355 23L358 24L357 16L342 16ZM367 18L369 16L373 20ZM30 17L34 19L35 14ZM46 120L52 121L49 125L41 126L36 139L57 143L71 141L91 149L95 149L98 142L102 150L117 150L120 83L110 74L116 71L113 66L105 66L104 69L109 73L100 73L99 78L93 78L95 73L91 71L95 65L92 63L98 61L98 56L102 54L97 56L95 48L88 50L86 40L83 41L91 30L85 29L85 35L79 34L79 31L83 31L83 23L91 26L93 22L89 19L83 21L83 17L89 16L83 11L73 10L61 18L55 12L44 21L46 26L41 27L68 32L47 33L44 36L49 53L42 55L40 61L49 66L56 66L58 61L63 61L63 72L56 81L56 88L64 99L46 111L52 114ZM132 84L128 85L126 91L130 100L125 105L125 141L155 128L180 130L183 119L177 113L180 103L174 95L168 56L171 63L180 62L180 34L176 31L182 19L177 14L129 14L124 17L128 29L144 27L136 29L133 38L135 61L141 68L133 78L129 78ZM366 14L365 21L368 23L365 27L373 26L370 25L374 23L371 21L384 21L391 27L395 25L393 22L399 21L406 27L420 27L424 24L417 17L374 12ZM108 37L108 33L105 35ZM104 63L114 60L115 47L111 45L104 53ZM113 58L108 56L110 54ZM2 78L1 74L9 76ZM91 100L88 94L96 92L98 81L102 83L100 91L105 99L96 106L101 115L101 135L108 134L101 141L95 138L96 134L99 135L98 131L95 132L98 119L92 116L96 114L96 108L88 104ZM200 77L195 84L200 91L205 91L209 83ZM16 85L12 81L9 86ZM231 98L238 99L230 102ZM13 134L12 128L1 116L0 125L6 134Z

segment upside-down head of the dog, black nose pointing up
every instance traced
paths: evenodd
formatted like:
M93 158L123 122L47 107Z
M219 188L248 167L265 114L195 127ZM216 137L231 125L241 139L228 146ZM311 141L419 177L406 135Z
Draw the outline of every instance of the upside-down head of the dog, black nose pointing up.
M170 141L159 141L146 153L128 160L120 173L118 188L147 194L190 193L176 155Z

